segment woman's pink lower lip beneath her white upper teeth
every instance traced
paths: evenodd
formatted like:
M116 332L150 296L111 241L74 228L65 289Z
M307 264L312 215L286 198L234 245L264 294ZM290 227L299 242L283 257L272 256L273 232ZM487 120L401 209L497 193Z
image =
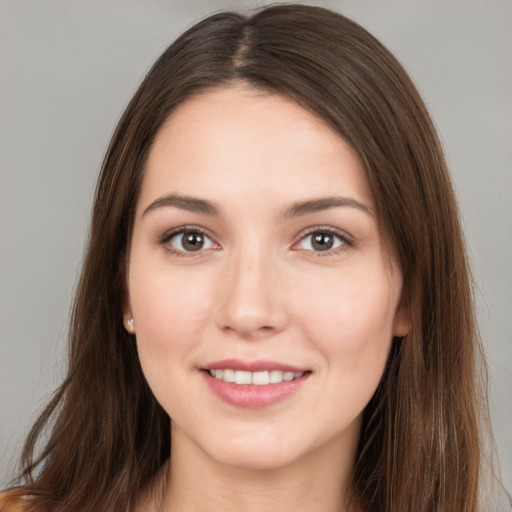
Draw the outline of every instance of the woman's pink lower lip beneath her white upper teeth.
M236 407L259 409L277 404L297 393L309 373L298 379L256 386L251 384L234 384L212 377L209 372L202 372L211 391L222 401Z

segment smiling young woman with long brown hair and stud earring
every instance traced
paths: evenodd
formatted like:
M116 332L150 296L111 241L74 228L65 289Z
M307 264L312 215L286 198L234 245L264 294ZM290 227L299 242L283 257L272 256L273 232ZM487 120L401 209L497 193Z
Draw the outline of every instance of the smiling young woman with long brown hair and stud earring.
M446 164L338 14L221 13L162 55L104 162L70 333L6 510L480 510Z

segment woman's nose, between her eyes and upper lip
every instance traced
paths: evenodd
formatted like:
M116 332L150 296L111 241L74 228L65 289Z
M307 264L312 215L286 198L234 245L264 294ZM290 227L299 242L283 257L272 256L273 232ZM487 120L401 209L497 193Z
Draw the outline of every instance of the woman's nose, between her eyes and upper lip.
M227 258L220 277L217 325L244 339L280 332L288 321L279 265L263 251Z

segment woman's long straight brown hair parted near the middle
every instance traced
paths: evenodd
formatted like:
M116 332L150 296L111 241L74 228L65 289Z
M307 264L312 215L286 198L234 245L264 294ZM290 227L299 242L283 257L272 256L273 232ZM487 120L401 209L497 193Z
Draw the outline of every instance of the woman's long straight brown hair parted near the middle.
M128 105L96 190L68 376L28 436L25 485L13 494L31 495L40 510L124 512L169 457L169 417L123 327L123 262L162 123L193 95L234 82L294 99L355 148L403 275L412 328L394 339L364 411L354 474L364 510L478 510L483 359L442 149L396 59L356 23L304 5L199 22L159 58Z

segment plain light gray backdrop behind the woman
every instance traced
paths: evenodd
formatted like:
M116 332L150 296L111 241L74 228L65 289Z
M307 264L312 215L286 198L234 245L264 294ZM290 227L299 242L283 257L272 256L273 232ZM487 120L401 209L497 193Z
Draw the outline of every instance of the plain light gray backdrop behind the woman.
M503 480L512 487L512 3L339 0L419 86L478 282ZM229 1L0 0L0 488L63 375L96 176L153 60ZM261 5L261 2L260 2Z

